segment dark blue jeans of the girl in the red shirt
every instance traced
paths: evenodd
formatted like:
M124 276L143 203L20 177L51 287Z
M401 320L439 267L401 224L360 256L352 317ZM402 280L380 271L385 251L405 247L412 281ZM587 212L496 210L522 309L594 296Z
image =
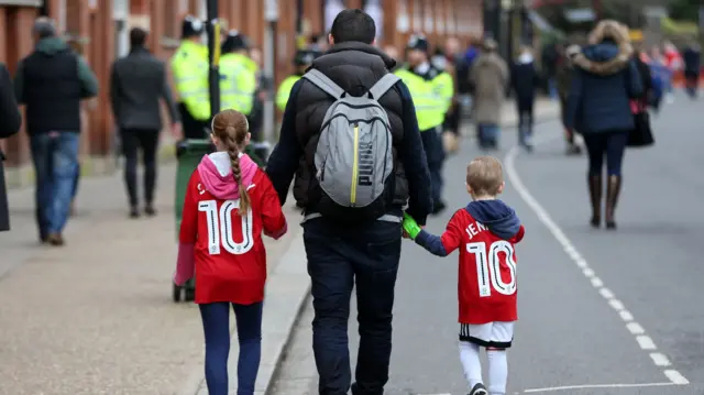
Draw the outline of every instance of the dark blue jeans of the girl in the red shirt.
M228 395L230 305L234 309L240 343L238 395L253 395L262 356L262 305L212 303L198 305L206 337L206 383L210 395Z

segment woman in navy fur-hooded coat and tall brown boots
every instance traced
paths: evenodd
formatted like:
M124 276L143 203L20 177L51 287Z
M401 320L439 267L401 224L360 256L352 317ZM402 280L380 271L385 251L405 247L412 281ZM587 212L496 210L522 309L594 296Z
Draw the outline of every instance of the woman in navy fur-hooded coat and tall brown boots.
M584 136L590 163L591 223L595 228L602 220L602 174L606 156L606 228L616 229L624 151L628 133L635 127L630 100L642 95L632 55L627 28L605 20L590 34L590 45L574 57L565 127L576 128Z

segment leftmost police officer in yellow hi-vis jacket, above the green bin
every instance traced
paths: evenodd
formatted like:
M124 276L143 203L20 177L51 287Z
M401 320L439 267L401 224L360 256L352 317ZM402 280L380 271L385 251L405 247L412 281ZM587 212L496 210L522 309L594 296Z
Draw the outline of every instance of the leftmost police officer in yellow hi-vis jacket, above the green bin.
M209 127L208 47L202 44L204 29L200 20L187 15L182 24L180 45L172 57L185 139L204 139Z

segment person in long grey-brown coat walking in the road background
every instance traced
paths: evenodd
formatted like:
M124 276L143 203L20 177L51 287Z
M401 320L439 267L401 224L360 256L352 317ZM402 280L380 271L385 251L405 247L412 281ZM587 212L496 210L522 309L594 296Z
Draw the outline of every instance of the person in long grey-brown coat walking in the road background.
M496 48L496 41L487 39L470 72L470 83L474 87L472 118L483 150L498 149L498 124L509 83L508 66Z

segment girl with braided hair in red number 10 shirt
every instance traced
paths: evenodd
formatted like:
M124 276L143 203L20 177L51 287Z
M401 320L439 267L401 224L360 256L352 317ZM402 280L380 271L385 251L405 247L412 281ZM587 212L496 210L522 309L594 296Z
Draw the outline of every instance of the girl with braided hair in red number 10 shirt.
M238 394L253 395L262 351L266 252L262 232L278 239L286 218L268 177L242 152L246 118L224 110L212 119L218 152L204 156L186 190L174 282L196 277L206 338L210 395L228 395L230 305L240 342Z

